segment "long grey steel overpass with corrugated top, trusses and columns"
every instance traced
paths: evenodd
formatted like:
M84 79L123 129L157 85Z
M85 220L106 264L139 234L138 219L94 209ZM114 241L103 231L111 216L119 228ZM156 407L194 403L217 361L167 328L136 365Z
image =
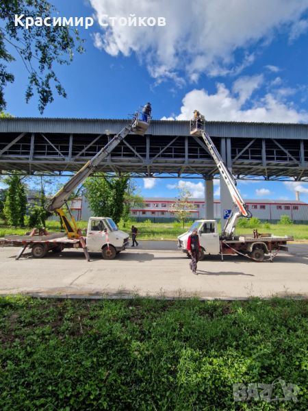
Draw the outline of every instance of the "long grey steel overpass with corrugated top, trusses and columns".
M78 171L127 121L115 119L1 119L0 172L68 175ZM308 181L308 125L207 121L207 132L238 179ZM133 177L205 179L211 218L214 160L189 121L152 121L145 136L130 134L101 163L105 173ZM230 208L221 184L222 209Z

